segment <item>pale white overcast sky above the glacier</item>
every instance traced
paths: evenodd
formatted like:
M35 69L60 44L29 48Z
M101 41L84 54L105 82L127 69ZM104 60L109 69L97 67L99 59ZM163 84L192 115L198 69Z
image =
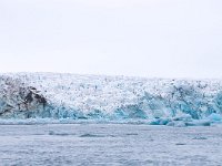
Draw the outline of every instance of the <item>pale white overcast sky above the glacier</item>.
M222 77L222 0L0 0L0 72Z

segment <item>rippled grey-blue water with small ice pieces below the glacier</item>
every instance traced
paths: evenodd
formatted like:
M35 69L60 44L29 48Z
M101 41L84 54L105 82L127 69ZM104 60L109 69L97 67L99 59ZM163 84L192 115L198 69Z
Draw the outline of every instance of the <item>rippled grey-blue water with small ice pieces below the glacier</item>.
M222 126L0 125L0 165L222 165Z

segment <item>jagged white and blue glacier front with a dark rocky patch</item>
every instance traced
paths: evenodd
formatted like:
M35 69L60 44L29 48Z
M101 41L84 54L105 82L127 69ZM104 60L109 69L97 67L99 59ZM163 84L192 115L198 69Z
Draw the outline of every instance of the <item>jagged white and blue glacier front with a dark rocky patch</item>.
M0 75L0 118L144 120L192 125L195 120L221 121L221 115L222 80Z

